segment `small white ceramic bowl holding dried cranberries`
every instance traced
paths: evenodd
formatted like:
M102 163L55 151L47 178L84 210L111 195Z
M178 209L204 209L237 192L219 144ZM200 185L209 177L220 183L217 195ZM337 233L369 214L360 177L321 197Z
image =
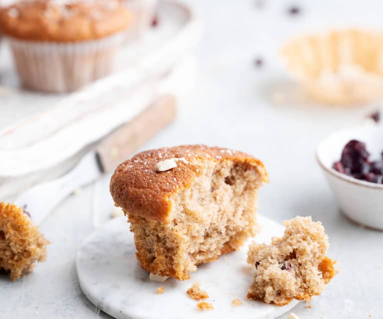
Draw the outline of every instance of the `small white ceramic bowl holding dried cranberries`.
M367 144L371 159L381 159L383 126L364 126L337 131L323 140L317 159L334 191L341 211L356 223L383 230L383 185L361 181L332 168L339 161L343 147L352 139Z

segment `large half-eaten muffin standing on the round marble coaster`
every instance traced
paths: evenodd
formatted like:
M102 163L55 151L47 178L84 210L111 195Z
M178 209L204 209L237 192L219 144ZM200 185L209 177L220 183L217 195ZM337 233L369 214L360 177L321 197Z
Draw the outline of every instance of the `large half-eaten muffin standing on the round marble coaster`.
M255 235L264 182L266 169L255 157L186 145L142 152L122 163L110 192L128 216L141 267L186 280L197 265L238 250Z

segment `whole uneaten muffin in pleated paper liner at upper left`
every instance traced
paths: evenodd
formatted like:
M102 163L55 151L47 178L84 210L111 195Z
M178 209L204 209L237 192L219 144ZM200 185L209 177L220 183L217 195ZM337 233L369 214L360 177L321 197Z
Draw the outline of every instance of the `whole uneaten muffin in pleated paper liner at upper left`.
M23 0L0 10L22 83L68 92L111 73L132 23L118 0Z

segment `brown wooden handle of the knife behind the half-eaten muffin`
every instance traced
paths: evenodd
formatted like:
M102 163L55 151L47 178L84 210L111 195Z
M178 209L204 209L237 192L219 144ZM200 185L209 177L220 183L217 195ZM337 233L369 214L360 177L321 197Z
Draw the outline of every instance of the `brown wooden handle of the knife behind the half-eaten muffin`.
M96 149L104 172L114 170L159 130L172 122L175 114L174 96L165 95L107 136Z

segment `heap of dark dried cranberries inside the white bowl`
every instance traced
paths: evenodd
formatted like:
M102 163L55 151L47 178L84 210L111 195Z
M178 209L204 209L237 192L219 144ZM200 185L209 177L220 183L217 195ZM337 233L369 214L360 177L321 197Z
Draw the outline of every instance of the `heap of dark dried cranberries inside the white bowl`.
M383 184L383 153L382 159L371 162L366 143L351 140L342 151L341 160L333 164L333 168L356 179Z

